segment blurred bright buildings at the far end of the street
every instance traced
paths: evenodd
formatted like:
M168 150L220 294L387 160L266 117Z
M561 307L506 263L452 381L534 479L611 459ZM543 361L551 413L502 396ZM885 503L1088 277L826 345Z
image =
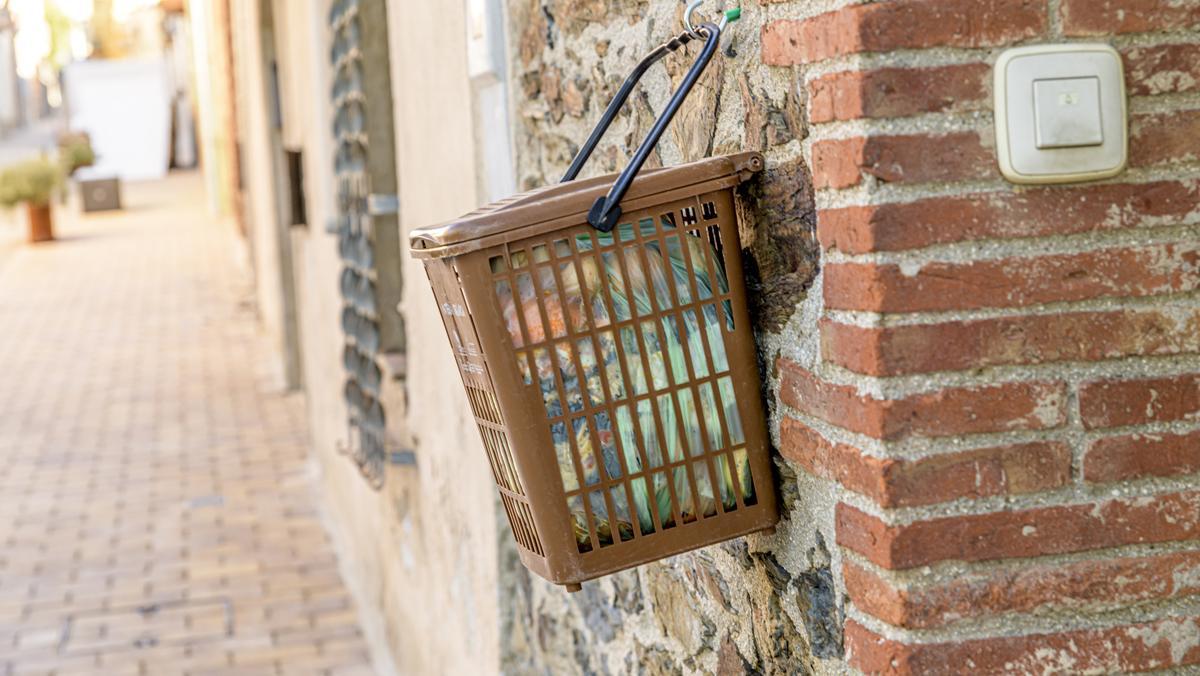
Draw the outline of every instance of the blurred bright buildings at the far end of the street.
M166 175L197 162L192 48L182 6L150 0L0 5L0 134L49 151L91 137L95 174Z

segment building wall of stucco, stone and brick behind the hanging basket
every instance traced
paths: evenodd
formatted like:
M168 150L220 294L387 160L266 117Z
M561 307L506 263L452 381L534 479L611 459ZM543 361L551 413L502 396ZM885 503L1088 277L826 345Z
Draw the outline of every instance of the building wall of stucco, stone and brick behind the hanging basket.
M305 394L377 663L1200 663L1200 10L743 8L650 164L767 157L742 238L782 521L568 594L517 561L407 233L554 181L683 4L191 2L215 208L245 233L269 366ZM1045 42L1120 52L1118 177L1001 177L992 67ZM589 175L624 164L695 50L647 76Z

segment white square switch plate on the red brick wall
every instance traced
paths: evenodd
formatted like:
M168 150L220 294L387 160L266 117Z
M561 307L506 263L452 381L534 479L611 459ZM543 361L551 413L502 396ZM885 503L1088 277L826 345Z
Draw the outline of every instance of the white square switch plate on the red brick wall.
M1006 179L1075 183L1124 171L1124 70L1112 47L1009 49L996 61L995 96L996 155Z

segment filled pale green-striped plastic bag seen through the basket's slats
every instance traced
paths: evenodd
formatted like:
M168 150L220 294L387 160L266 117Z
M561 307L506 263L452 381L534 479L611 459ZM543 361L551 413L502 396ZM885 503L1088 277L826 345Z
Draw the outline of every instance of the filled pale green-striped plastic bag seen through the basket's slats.
M604 546L755 502L715 223L582 232L493 258L492 270L551 419L581 551L593 533Z

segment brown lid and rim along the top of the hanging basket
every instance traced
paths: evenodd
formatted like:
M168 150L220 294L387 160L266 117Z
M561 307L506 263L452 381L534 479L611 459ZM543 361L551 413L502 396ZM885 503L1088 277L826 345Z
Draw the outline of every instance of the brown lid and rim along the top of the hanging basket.
M707 189L737 185L761 172L764 164L761 152L750 151L647 169L638 174L622 204L631 211L653 204L664 193L697 186L706 186L701 192L707 192ZM584 222L592 204L608 192L616 175L542 186L452 221L414 229L408 235L410 252L416 258L455 256ZM718 185L706 185L714 183Z

